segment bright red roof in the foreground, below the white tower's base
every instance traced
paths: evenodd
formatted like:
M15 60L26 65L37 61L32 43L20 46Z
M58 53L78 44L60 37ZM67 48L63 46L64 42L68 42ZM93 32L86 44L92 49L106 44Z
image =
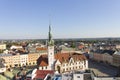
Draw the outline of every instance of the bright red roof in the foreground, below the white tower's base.
M35 79L44 79L47 74L54 74L53 70L37 70Z

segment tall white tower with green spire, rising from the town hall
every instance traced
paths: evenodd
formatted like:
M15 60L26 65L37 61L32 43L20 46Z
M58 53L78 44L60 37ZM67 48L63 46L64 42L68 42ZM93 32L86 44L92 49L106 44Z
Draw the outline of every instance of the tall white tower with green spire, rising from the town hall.
M52 39L51 26L49 25L48 32L48 66L50 70L54 69L54 40Z

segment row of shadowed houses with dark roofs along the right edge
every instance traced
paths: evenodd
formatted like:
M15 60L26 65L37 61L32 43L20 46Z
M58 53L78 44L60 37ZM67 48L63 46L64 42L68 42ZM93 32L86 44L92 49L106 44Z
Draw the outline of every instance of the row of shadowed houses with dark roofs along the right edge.
M120 66L120 52L114 50L91 51L89 57L98 62L108 63L116 67Z

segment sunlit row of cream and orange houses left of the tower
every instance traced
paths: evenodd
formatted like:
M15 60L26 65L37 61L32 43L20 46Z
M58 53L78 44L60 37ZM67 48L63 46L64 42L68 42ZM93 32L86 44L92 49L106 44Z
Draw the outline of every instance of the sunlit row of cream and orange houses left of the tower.
M37 59L41 54L29 53L29 54L0 54L0 58L5 60L6 68L21 67L26 65L35 65Z

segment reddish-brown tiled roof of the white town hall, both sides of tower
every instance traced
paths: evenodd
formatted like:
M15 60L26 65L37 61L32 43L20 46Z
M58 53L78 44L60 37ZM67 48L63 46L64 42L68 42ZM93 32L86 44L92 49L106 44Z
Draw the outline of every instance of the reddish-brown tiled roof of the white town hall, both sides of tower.
M55 54L55 59L59 60L61 63L69 62L70 58L73 58L74 61L87 59L84 55L78 54L78 53L57 53ZM41 55L37 62L39 66L48 66L48 56Z

